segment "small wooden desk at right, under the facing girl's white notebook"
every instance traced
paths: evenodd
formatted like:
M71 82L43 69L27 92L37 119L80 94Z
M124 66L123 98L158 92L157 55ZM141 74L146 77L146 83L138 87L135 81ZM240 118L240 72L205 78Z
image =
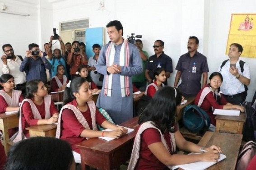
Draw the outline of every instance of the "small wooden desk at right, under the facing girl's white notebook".
M216 115L216 132L242 134L246 119L245 112L239 116Z

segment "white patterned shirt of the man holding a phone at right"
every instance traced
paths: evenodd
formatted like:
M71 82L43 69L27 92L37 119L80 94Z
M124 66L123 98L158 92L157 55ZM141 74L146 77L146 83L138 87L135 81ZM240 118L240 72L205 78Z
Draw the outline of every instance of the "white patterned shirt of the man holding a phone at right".
M241 72L240 60L237 61L236 63L236 68L238 69L239 74L242 76L251 79L251 74L250 74L250 68L247 63L243 65L243 72ZM221 66L221 64L220 64ZM220 70L219 66L219 70ZM220 90L222 91L223 94L225 95L235 95L237 93L241 93L245 91L244 84L241 83L236 76L232 75L229 73L229 68L230 68L230 61L228 60L225 65L223 65L222 69L219 71L219 73L222 74L223 77L223 82L220 86Z

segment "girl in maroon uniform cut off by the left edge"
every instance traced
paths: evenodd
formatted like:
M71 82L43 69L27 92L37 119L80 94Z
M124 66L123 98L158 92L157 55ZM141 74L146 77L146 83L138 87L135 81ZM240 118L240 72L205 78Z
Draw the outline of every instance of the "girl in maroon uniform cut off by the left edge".
M0 77L0 113L6 111L19 110L19 103L22 102L23 96L21 91L14 90L14 77L11 74L3 74ZM9 129L9 137L18 131L18 128Z

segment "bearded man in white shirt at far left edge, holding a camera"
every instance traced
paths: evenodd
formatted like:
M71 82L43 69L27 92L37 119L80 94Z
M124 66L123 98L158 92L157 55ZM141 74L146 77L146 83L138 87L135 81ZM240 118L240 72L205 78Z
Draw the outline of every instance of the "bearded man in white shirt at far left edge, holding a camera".
M1 57L0 68L2 74L11 74L14 77L14 82L16 84L15 89L21 90L22 94L26 93L26 74L17 70L20 67L23 60L22 56L14 55L13 47L10 44L5 44L2 46L5 53Z

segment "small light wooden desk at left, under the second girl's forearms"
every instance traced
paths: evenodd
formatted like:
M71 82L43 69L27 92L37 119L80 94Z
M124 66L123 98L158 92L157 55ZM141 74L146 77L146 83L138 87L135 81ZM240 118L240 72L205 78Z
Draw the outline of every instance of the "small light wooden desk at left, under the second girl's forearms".
M26 128L29 131L30 137L42 136L42 137L53 137L56 136L56 124L43 124L35 125Z

